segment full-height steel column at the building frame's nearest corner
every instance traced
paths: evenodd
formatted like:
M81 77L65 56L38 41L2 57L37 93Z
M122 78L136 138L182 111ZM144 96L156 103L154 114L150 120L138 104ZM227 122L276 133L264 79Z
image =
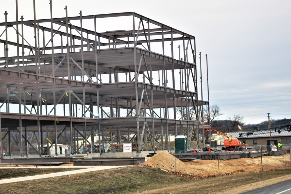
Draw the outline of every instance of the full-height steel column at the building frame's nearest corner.
M139 138L139 99L137 93L137 67L136 67L136 39L135 39L135 21L134 12L132 12L132 23L133 23L133 47L134 47L134 82L135 82L135 104L136 104L136 129L137 129L137 152L141 151L140 138Z

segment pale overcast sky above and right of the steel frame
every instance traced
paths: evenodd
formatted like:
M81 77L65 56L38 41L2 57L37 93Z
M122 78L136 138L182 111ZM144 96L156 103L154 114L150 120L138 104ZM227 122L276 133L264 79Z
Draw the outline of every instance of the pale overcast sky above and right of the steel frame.
M18 0L18 15L33 19L33 1ZM210 104L226 119L246 124L291 118L291 1L97 1L53 0L53 17L136 12L196 37L205 67ZM49 1L36 0L36 18L50 18ZM0 12L15 21L15 1L0 0ZM5 22L3 14L0 22ZM2 32L1 32L2 33ZM2 39L2 37L1 37ZM199 65L199 63L198 63ZM206 72L203 83L206 83ZM203 98L207 100L207 87Z

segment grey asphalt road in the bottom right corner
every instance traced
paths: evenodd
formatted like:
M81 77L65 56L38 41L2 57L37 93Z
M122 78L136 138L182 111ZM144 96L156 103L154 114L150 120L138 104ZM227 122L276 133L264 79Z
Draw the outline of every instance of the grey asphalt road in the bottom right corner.
M279 178L280 179L280 178ZM241 194L291 194L291 179Z

